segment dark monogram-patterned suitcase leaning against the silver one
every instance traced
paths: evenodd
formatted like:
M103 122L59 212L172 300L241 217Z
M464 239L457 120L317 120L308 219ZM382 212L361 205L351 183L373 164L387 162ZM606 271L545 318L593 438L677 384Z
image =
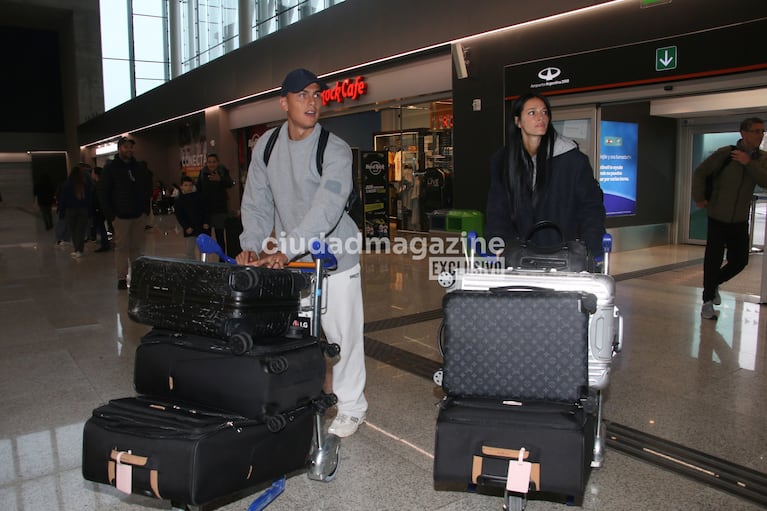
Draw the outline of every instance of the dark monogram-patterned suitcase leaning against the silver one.
M588 387L589 293L454 291L443 298L446 395L573 403Z

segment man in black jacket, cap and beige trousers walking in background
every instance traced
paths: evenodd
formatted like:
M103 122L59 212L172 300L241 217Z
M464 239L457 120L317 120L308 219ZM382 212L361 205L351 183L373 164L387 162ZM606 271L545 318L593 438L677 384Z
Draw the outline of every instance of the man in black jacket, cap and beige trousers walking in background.
M122 137L117 154L101 173L99 201L104 217L114 227L117 289L128 289L130 262L144 252L149 205L152 197L152 174L145 162L133 157L133 139Z

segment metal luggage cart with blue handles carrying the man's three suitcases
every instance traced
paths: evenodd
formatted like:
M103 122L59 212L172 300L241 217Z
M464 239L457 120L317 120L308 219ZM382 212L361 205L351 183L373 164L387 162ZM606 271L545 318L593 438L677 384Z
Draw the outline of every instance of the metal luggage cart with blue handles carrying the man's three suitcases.
M200 250L203 261L207 260L209 254L217 255L221 261L237 264L237 261L229 257L221 246L210 236L201 234L197 237L197 247ZM337 262L335 256L331 254L327 247L319 241L315 241L310 249L312 254L312 263L291 263L289 268L296 271L312 273L312 285L310 303L302 307L303 314L310 316L310 333L313 337L320 336L320 322L322 313L323 282L328 271L335 269ZM337 345L333 352L329 354L335 356L338 354ZM341 439L329 433L323 432L322 417L330 406L335 404L335 396L330 399L316 403L317 411L314 416L314 436L312 439L311 451L308 455L307 477L315 481L330 482L335 479L338 472L340 460ZM248 507L248 511L261 511L272 503L285 490L286 476L274 481L272 485L264 490ZM173 511L197 511L198 506L178 507L171 503Z

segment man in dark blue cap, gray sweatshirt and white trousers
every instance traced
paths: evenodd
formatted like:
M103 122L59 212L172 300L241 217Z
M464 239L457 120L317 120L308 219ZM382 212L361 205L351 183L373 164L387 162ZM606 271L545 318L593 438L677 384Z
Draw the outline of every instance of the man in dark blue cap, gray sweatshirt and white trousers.
M275 128L279 135L268 164L264 150L274 130L264 133L253 148L241 205L243 252L237 262L283 268L289 261L311 260L307 252L316 239L324 240L338 259L338 268L326 281L322 329L328 341L341 346L332 367L338 414L328 432L346 437L365 420L368 406L359 264L362 241L357 225L345 212L352 188L349 145L331 134L322 172L317 169L322 130L317 120L322 91L327 88L306 69L285 76L279 102L287 121ZM269 238L272 231L275 239Z

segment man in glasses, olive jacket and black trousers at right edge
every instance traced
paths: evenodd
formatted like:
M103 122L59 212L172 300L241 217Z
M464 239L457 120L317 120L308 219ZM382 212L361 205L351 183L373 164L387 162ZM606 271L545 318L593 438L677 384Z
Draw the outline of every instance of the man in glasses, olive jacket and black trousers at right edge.
M750 236L748 217L756 185L767 186L767 153L759 149L764 138L764 120L749 117L740 123L741 139L720 147L698 165L692 176L692 198L706 208L708 234L703 256L704 319L717 319L714 305L722 303L719 285L748 265ZM706 199L706 178L713 178L711 197ZM727 249L727 264L722 266Z

